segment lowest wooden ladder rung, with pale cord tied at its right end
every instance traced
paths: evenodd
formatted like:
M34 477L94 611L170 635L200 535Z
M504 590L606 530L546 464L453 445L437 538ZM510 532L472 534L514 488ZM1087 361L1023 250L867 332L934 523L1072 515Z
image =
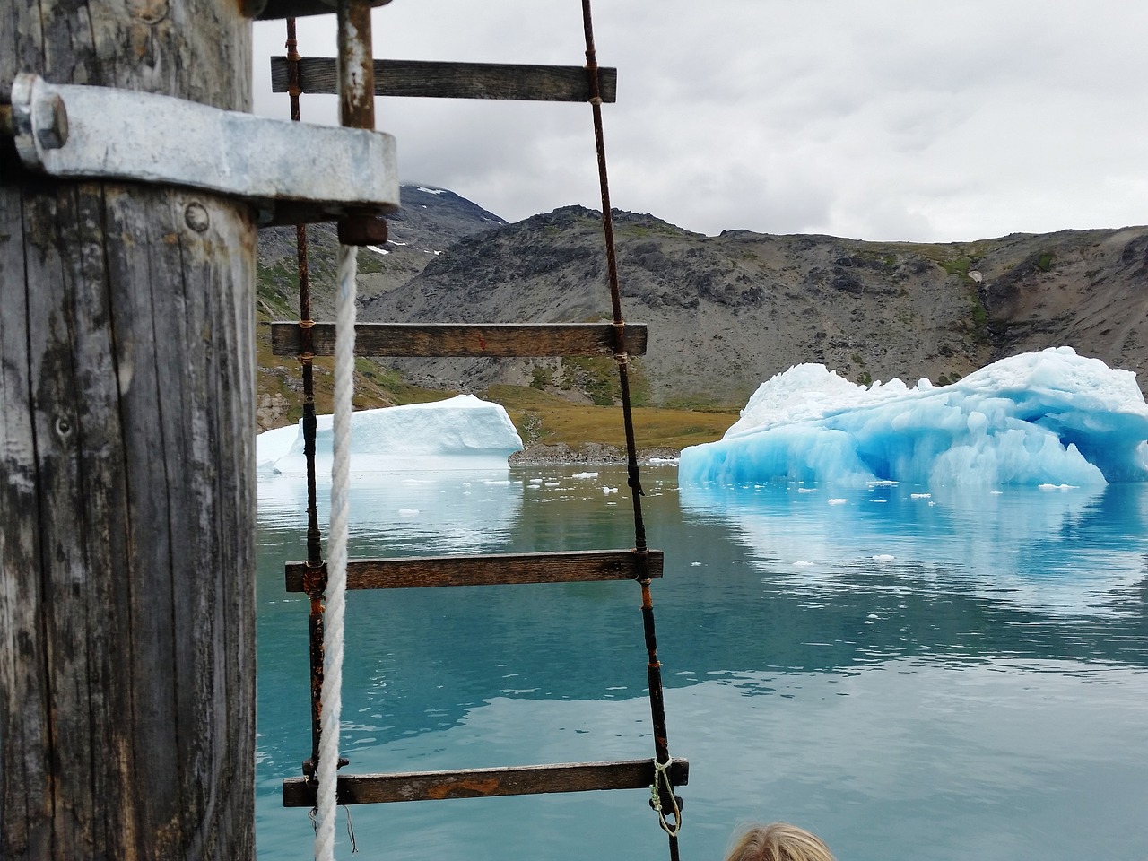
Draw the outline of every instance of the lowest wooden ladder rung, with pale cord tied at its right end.
M673 759L670 783L689 783L690 763ZM543 792L590 792L594 790L649 789L653 784L653 761L561 762L553 766L470 768L458 771L405 771L396 774L339 775L335 788L341 805L432 801L448 798L494 798L533 796ZM284 781L284 807L315 807L315 786L305 777Z

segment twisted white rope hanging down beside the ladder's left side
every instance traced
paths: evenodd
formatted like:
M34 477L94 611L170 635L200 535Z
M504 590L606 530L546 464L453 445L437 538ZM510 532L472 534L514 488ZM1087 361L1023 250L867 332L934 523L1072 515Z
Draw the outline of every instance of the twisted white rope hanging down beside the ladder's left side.
M323 622L323 718L318 768L315 858L335 856L335 781L343 687L343 611L347 606L347 515L350 482L351 395L355 389L355 276L357 251L339 246L335 307L334 457L331 464L331 527L327 540L327 606Z

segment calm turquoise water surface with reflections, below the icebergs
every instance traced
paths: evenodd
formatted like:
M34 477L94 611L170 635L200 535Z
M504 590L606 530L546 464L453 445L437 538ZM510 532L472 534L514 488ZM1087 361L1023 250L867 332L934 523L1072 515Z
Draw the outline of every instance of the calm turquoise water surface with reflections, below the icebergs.
M585 472L360 476L351 554L631 545L625 474ZM691 763L683 859L778 819L840 861L1148 859L1148 489L643 475L669 746ZM286 861L312 839L280 794L310 752L307 603L282 591L304 496L286 476L259 492L256 836L261 861ZM652 755L635 584L348 597L348 771ZM367 859L662 859L646 797L351 816Z

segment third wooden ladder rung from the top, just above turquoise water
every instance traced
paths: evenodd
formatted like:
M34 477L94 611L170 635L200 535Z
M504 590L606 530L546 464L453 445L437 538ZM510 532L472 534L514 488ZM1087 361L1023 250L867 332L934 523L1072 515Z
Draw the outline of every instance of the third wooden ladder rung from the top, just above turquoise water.
M433 556L352 559L347 563L348 589L416 589L440 585L506 585L636 580L641 560L634 550L581 550L561 553ZM646 574L661 576L664 554L646 552ZM303 588L305 561L286 566L288 592Z

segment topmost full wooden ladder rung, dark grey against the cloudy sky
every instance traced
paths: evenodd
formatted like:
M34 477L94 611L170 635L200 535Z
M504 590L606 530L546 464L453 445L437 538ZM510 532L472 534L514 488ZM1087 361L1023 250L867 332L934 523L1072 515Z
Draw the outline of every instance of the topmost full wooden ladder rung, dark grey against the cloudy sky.
M303 57L298 61L302 92L331 95L338 92L336 80L334 59ZM287 84L287 57L271 57L271 91L286 93ZM614 102L618 70L599 68L598 87L604 102ZM374 94L585 102L590 100L590 82L581 65L375 60Z

